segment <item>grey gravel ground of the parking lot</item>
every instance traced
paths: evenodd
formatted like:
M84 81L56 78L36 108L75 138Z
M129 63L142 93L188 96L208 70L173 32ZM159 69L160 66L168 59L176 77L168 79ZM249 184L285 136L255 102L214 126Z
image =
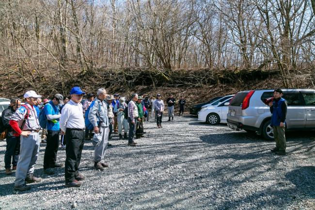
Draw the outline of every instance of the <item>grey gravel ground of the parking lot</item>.
M166 120L166 117L164 117ZM286 156L271 154L273 142L226 125L210 126L190 116L145 123L139 146L113 136L110 167L93 169L92 142L84 144L80 188L64 188L64 171L43 174L45 144L35 175L43 181L28 192L13 191L12 176L0 171L0 209L205 209L314 210L314 133L288 133ZM5 142L0 142L3 167ZM59 150L59 162L65 151Z

